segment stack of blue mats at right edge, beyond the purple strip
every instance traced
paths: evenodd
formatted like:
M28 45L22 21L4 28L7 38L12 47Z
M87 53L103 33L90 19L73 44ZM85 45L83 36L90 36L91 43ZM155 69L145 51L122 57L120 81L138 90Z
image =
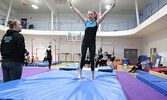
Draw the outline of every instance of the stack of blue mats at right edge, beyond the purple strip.
M167 80L157 77L155 75L151 75L148 72L139 71L139 74L136 75L136 78L148 84L152 88L156 89L163 95L167 96Z

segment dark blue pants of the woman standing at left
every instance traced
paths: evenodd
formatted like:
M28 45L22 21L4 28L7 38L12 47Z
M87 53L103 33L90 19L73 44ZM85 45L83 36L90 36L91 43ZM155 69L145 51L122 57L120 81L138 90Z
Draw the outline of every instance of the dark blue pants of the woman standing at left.
M2 62L3 81L20 79L22 75L23 64L20 62Z

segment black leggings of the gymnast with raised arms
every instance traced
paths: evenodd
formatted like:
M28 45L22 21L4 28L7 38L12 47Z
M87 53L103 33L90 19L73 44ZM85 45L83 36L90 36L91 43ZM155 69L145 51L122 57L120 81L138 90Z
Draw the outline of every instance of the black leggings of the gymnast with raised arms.
M90 52L91 71L94 71L95 70L95 48L96 48L95 42L90 42L90 43L85 43L84 41L82 42L80 68L82 69L83 66L85 65L85 56L86 56L87 48L89 48L89 52Z

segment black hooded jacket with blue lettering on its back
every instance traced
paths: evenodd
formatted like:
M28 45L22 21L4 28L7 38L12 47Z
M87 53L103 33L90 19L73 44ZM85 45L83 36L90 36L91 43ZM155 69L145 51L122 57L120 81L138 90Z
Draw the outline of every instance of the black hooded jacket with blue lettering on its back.
M24 62L24 37L15 30L7 30L1 41L2 62Z

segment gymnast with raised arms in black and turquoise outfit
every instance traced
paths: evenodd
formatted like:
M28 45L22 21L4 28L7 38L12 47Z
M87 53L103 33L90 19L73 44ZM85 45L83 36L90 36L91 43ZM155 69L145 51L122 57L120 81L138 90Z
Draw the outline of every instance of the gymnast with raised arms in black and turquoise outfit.
M112 5L108 10L102 14L100 18L98 18L98 13L95 10L88 11L88 19L86 19L81 12L71 3L69 0L70 7L78 14L82 22L85 24L85 34L82 41L81 47L81 60L80 60L80 68L78 78L82 78L82 68L85 62L85 56L87 48L90 50L90 62L91 62L91 80L94 79L94 69L95 69L95 48L96 48L96 32L98 29L98 25L102 22L104 17L111 11L111 9L115 6L116 0L113 1Z

